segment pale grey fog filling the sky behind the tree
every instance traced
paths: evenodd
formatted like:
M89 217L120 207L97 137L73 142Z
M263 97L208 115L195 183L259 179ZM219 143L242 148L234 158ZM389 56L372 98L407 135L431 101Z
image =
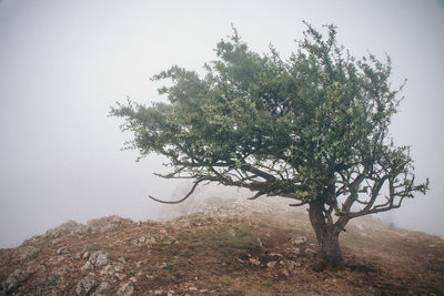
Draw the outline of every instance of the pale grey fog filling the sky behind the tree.
M339 27L356 57L393 60L393 84L408 79L392 124L412 145L418 180L432 190L380 215L444 236L443 1L0 1L0 247L68 220L104 215L157 220L185 183L153 176L163 160L135 162L109 118L127 96L159 100L150 76L172 64L203 73L216 42L238 28L250 48L284 57L302 20Z

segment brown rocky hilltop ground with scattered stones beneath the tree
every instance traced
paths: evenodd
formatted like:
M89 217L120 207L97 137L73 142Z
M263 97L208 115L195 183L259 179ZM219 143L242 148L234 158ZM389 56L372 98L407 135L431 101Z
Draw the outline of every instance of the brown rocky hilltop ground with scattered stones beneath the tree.
M444 295L444 241L371 218L324 269L306 211L203 206L167 222L68 222L0 249L0 295Z

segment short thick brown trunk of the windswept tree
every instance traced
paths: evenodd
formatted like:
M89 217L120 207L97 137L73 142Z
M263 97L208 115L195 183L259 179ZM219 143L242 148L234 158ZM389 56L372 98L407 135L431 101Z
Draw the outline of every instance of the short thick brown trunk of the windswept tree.
M310 203L310 222L316 233L317 244L324 264L330 268L342 268L344 261L340 248L340 233L335 225L329 225L320 203Z

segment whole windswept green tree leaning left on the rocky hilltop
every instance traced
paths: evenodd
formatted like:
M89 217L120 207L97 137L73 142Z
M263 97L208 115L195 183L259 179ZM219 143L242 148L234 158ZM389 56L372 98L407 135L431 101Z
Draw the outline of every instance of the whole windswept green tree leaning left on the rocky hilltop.
M167 178L245 187L260 196L307 205L322 258L342 267L339 235L351 218L397 208L428 180L415 183L408 146L395 146L389 125L404 83L393 90L391 60L356 60L305 23L287 60L249 50L233 35L216 45L206 75L176 65L153 76L168 102L118 103L111 115L134 134L141 156L169 159ZM163 202L155 197L151 198Z

